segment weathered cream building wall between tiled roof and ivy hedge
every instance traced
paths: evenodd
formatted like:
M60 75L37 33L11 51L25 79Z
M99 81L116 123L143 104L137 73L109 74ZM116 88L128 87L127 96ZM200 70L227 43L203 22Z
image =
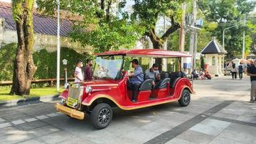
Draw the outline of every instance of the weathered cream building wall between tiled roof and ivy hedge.
M0 48L12 42L17 42L17 32L14 30L4 29L4 19L0 18ZM69 37L61 37L61 47L73 48L78 53L92 54L93 49L91 46L82 47L79 42L71 42ZM57 50L57 36L56 35L43 35L35 33L34 50L48 50L53 52Z

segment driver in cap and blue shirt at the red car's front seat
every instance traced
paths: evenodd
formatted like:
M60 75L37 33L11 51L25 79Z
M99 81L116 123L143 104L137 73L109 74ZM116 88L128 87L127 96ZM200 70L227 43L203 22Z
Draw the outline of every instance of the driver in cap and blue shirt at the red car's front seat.
M144 74L141 66L138 65L138 60L131 60L131 66L134 68L133 73L128 73L129 77L132 77L130 81L128 81L128 89L133 90L133 94L131 100L136 102L136 96L138 96L138 88L141 86L141 83L144 81Z

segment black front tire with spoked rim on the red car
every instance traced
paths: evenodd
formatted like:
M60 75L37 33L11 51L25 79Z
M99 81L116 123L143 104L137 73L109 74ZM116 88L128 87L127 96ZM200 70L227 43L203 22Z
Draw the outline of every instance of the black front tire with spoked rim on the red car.
M112 120L112 108L106 103L97 104L92 109L91 121L95 129L100 130L108 125Z

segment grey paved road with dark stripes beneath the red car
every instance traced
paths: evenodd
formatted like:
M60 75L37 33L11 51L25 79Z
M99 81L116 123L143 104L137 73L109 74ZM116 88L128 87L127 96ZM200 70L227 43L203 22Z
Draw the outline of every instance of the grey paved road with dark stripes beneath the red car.
M0 109L0 143L256 143L256 103L250 82L195 81L188 107L177 102L124 112L114 110L109 127L56 112L54 102Z

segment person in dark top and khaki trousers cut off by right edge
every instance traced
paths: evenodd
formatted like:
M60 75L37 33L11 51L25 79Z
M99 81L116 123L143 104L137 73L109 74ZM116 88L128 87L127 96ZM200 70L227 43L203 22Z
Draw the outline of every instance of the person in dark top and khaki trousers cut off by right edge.
M256 89L256 59L253 64L247 67L247 76L250 76L251 80L251 99L250 102L255 102L255 89Z

